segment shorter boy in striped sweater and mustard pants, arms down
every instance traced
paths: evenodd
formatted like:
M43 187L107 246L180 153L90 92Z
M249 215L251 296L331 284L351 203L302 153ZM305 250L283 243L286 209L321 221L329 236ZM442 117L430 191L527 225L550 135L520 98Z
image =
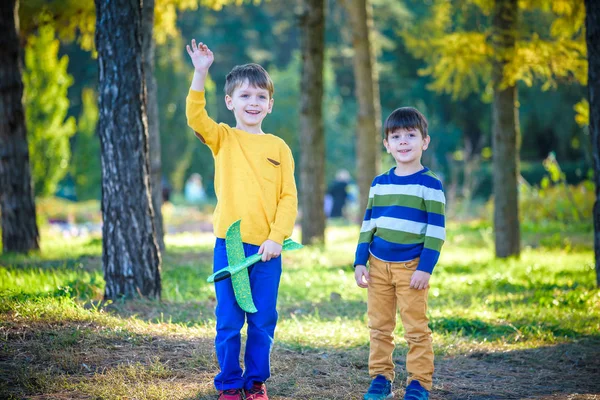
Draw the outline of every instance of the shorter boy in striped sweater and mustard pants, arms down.
M430 142L423 114L411 107L399 108L387 118L384 129L383 144L396 166L371 184L354 262L356 284L368 289L373 380L364 399L393 397L398 308L408 343L404 399L423 400L432 388L427 294L445 239L445 197L440 180L421 164Z

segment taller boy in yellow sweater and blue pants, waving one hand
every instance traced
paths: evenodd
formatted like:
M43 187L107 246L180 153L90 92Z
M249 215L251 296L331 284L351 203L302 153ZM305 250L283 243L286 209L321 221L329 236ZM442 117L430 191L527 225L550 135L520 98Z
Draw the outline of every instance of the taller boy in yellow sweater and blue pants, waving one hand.
M236 66L227 75L225 104L236 126L217 124L206 112L204 82L214 55L202 42L186 46L194 77L186 101L188 125L215 159L214 271L227 266L225 233L241 219L246 256L262 254L249 270L257 313L237 304L231 280L217 282L215 348L221 371L214 379L220 400L265 400L270 353L277 324L281 247L292 234L298 208L294 159L287 144L264 133L261 125L273 109L273 82L258 64ZM248 321L245 370L239 363L240 330Z

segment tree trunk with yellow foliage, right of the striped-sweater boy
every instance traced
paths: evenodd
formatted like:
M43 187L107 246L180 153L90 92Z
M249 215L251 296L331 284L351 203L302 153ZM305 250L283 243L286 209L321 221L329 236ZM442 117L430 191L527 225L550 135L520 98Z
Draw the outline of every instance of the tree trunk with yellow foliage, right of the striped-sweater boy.
M494 233L496 257L519 256L519 114L516 86L503 83L504 67L515 51L517 0L496 0L492 19L494 101Z

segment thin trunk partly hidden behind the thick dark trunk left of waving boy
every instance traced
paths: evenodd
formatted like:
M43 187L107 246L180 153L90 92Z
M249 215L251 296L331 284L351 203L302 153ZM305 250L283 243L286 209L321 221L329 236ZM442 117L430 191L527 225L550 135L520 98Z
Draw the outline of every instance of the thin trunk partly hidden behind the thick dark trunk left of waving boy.
M162 166L160 159L160 127L158 123L158 98L154 77L154 0L144 0L142 9L142 52L144 54L144 77L146 80L146 110L148 110L148 143L150 149L150 193L154 209L154 229L161 252L165 250L165 234L162 217Z

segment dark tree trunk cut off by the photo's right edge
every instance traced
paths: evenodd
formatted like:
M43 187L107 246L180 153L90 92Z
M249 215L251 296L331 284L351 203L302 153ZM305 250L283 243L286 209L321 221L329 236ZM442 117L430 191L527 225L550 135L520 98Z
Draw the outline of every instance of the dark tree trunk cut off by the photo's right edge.
M588 48L588 91L590 102L590 136L594 159L594 253L596 286L600 287L600 2L585 0L585 29Z

